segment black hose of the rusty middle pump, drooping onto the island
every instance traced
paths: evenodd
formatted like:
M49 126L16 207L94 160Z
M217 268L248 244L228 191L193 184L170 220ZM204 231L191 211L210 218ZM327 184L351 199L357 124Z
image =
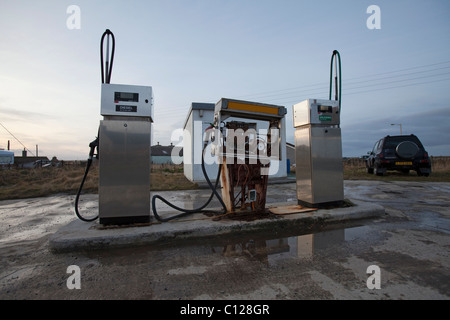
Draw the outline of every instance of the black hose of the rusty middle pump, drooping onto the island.
M217 199L219 200L220 204L222 205L223 210L224 210L223 213L226 213L226 212L227 212L227 207L226 207L225 203L223 202L222 197L218 194L218 192L217 192L217 190L216 190L216 189L217 189L217 186L218 186L219 178L220 178L220 173L221 173L221 171L222 171L222 164L219 164L219 170L218 170L218 172L217 172L216 183L215 183L215 185L213 186L212 183L211 183L211 181L209 180L208 174L206 173L206 169L205 169L205 158L204 158L205 150L206 150L206 144L205 144L205 146L204 146L204 148L203 148L203 150L202 150L202 172L203 172L203 175L204 175L204 177L205 177L205 179L206 179L206 182L208 183L208 186L209 186L209 187L211 188L211 190L212 190L211 195L210 195L208 201L206 201L205 204L203 204L203 205L202 205L201 207L199 207L199 208L196 208L196 209L184 209L184 208L180 208L180 207L175 206L174 204L170 203L169 201L167 201L166 199L164 199L163 197L161 197L161 196L159 196L159 195L154 195L154 196L152 197L152 211L153 211L153 215L155 216L155 218L156 218L158 221L161 221L161 222L167 222L167 221L170 221L170 220L174 220L174 219L178 219L178 218L187 216L187 215L189 215L189 214L205 212L204 208L206 208L206 207L209 205L209 203L211 202L211 200L212 200L212 198L214 197L214 195L217 197ZM168 206L170 206L170 207L172 207L173 209L176 209L176 210L178 210L178 211L181 211L182 213L181 213L181 214L178 214L178 215L175 215L175 216L172 216L172 217L168 217L168 218L161 218L161 217L158 215L157 211L156 211L156 199L161 200L162 202L164 202L164 203L167 204Z

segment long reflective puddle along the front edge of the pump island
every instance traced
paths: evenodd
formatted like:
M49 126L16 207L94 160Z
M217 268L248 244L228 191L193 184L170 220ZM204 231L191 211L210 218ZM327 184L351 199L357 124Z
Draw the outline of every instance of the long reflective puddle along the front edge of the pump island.
M370 226L355 225L351 227L335 226L334 229L301 235L286 235L273 237L270 235L235 235L202 240L190 240L183 244L164 243L152 247L142 246L134 248L111 249L101 252L92 252L88 257L99 259L100 264L108 264L113 259L124 259L127 263L132 260L165 260L173 256L186 255L193 257L206 257L212 255L223 263L232 263L236 259L259 262L271 267L283 260L298 259L299 261L313 260L316 255L334 253L345 243L360 240L363 242L370 238ZM151 258L150 258L151 257ZM224 259L224 260L223 260ZM227 262L228 261L228 262ZM186 270L184 270L187 268ZM203 266L184 266L171 268L170 274L198 274L204 270Z

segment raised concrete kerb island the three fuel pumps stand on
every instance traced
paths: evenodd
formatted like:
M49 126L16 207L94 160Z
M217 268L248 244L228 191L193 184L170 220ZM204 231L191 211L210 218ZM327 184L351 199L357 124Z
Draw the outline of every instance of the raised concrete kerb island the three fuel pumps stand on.
M297 234L311 232L315 225L331 225L359 219L380 217L385 214L382 206L357 200L353 206L335 209L320 209L289 215L271 215L253 221L207 218L203 214L180 219L180 221L155 223L143 226L100 228L97 222L74 220L54 233L49 240L54 253L120 248L164 242L184 242L221 235L245 234L295 230ZM271 203L267 207L294 205L295 203ZM169 214L170 215L170 214Z

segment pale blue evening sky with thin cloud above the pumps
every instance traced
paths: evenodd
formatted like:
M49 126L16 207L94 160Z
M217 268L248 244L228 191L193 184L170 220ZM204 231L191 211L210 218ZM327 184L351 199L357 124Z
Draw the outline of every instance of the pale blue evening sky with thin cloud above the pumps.
M191 103L221 98L285 106L294 143L292 106L328 99L338 50L343 156L400 124L450 156L449 16L448 0L0 0L0 148L87 159L110 29L111 83L153 88L153 144L179 143Z

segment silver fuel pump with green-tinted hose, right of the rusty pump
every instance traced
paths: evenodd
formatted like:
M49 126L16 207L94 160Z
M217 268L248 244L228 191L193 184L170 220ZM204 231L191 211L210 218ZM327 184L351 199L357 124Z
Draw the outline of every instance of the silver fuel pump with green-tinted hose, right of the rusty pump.
M335 62L335 100L331 100ZM339 62L339 74L338 65ZM341 62L333 51L328 100L307 99L293 106L298 204L321 207L344 200L341 116Z

